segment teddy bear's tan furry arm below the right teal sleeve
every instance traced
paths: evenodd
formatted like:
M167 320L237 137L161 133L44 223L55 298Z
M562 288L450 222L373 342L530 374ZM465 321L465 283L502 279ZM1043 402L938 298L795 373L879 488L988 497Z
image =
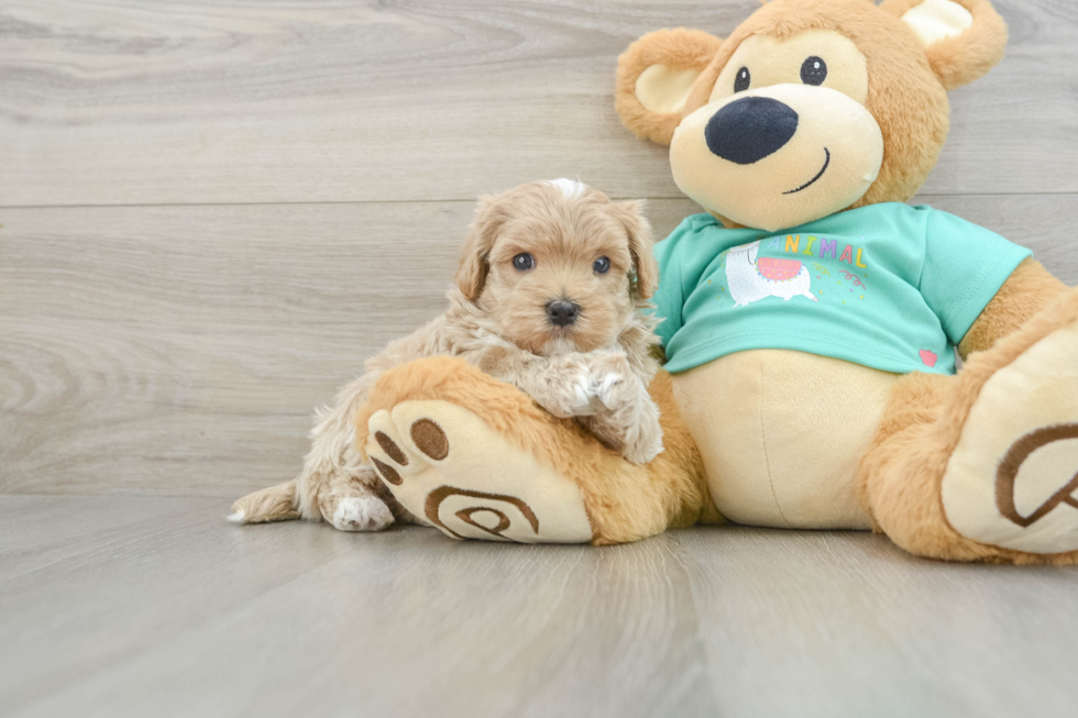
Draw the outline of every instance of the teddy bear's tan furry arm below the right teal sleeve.
M1008 277L958 344L963 358L991 349L997 340L1021 329L1031 317L1067 290L1036 259L1022 262Z

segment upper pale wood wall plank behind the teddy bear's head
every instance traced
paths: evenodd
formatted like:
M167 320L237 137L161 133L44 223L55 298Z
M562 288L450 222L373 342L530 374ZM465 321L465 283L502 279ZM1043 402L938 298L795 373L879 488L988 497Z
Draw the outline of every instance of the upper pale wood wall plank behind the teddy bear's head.
M1076 192L1078 4L999 0L925 191ZM541 177L680 197L614 112L617 55L756 0L4 0L0 206L473 198Z

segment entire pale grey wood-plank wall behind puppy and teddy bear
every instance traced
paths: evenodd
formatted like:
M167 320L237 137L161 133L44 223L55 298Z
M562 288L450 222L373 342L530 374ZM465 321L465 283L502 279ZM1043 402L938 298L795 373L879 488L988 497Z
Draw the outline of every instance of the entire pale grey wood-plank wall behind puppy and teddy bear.
M620 51L755 0L0 0L0 493L231 497L438 311L477 194L580 176L696 211ZM1078 281L1078 4L999 2L919 201Z

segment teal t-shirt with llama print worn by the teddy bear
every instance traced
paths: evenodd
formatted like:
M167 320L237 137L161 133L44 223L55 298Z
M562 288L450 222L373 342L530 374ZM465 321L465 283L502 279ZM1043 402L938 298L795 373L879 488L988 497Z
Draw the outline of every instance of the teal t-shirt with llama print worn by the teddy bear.
M656 245L666 368L789 349L954 374L954 347L1031 252L931 207L839 212L782 232L685 219Z

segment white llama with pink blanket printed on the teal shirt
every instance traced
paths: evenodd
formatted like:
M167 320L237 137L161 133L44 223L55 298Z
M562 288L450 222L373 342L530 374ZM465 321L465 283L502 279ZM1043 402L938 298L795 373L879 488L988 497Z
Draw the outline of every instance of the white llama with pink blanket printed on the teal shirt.
M760 240L736 246L726 256L726 284L735 307L745 307L768 297L790 301L805 297L818 301L812 294L809 267L798 259L761 257Z

